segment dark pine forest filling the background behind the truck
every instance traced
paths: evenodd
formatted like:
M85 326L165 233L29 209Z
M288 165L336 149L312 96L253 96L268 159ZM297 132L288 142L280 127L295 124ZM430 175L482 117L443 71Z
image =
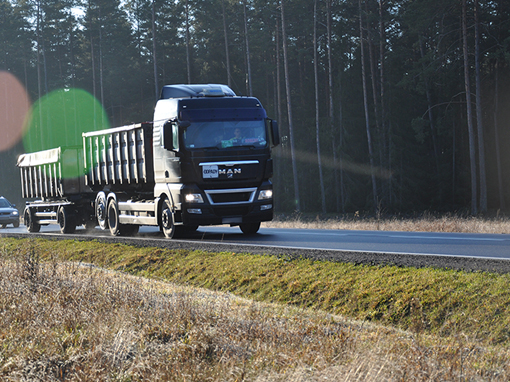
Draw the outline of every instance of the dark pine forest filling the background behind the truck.
M17 155L61 135L29 113L81 136L178 83L278 121L277 213L510 208L510 0L0 0L0 193L22 208Z

